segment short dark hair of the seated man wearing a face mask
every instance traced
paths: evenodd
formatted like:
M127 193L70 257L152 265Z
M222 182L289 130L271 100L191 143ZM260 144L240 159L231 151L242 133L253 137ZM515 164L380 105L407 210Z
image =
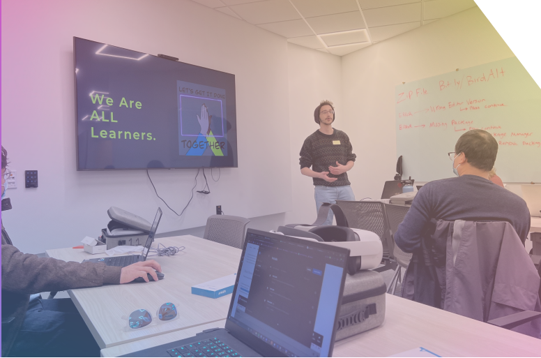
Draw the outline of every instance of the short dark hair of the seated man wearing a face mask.
M455 153L464 153L468 163L489 172L494 167L498 154L498 142L486 130L468 130L455 144Z

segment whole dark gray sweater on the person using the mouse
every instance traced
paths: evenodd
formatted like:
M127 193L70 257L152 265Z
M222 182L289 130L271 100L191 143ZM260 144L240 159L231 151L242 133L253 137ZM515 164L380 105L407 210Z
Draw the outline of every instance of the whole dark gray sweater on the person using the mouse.
M24 320L30 294L120 283L121 267L38 258L13 246L2 225L2 357Z

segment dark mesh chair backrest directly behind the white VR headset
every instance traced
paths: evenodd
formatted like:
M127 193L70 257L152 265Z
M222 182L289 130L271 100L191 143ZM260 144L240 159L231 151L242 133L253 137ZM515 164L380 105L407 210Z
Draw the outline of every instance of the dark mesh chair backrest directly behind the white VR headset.
M350 228L367 230L379 236L383 244L383 257L392 255L390 235L382 202L337 200L336 204L342 208Z

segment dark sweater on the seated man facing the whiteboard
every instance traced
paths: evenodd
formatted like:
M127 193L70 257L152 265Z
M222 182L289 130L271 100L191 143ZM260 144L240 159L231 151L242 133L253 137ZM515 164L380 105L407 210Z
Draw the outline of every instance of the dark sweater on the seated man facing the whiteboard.
M476 175L431 181L422 186L398 226L395 241L406 253L420 247L431 219L445 221L507 221L524 244L530 211L518 195Z

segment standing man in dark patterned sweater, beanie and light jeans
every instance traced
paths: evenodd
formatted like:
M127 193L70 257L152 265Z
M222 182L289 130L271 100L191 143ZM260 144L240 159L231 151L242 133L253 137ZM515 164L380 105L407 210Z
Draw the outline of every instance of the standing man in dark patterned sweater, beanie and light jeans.
M314 196L319 211L323 202L335 204L336 200L355 200L346 172L353 167L356 155L346 133L332 126L335 121L332 102L323 100L316 107L314 121L319 124L319 129L306 138L300 149L300 172L314 178ZM323 225L333 225L332 211Z

